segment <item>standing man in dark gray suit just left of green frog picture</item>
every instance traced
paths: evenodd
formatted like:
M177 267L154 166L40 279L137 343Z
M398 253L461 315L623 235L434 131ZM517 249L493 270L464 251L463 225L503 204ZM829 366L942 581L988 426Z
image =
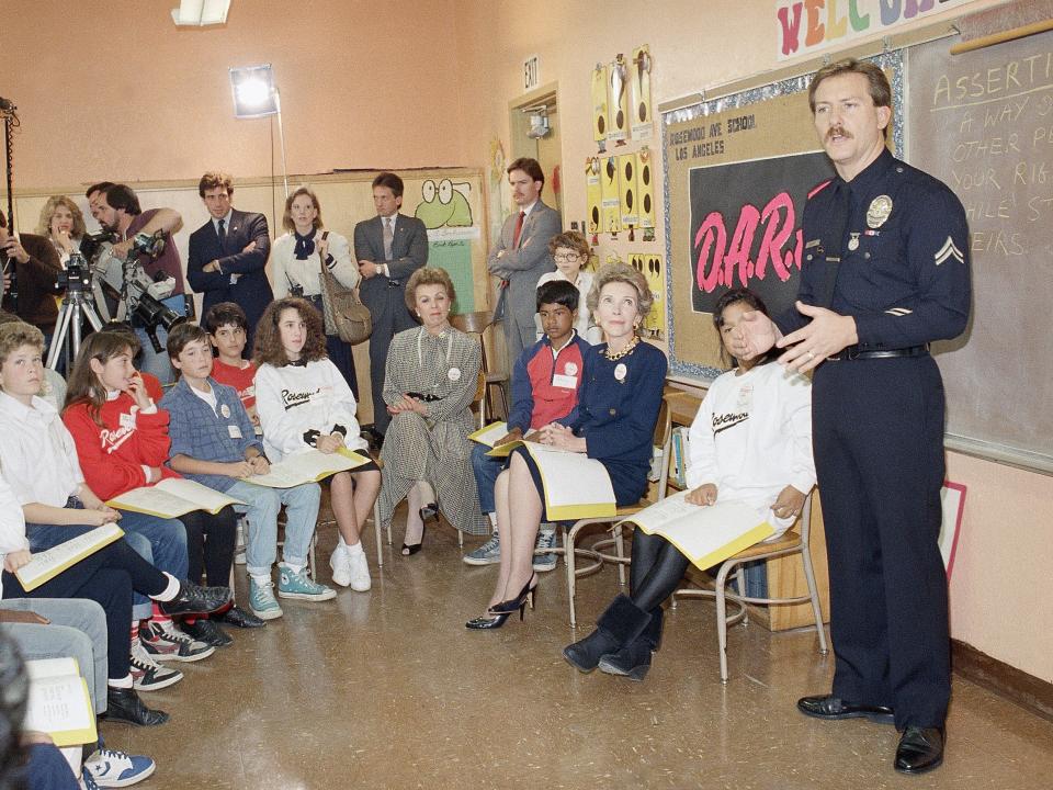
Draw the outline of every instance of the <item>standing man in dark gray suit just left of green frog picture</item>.
M384 403L384 370L392 338L417 326L406 306L406 281L428 263L428 228L417 217L399 214L403 180L392 172L373 179L376 216L354 226L354 257L362 282L359 294L373 316L370 336L370 382L373 430L382 437L390 416Z

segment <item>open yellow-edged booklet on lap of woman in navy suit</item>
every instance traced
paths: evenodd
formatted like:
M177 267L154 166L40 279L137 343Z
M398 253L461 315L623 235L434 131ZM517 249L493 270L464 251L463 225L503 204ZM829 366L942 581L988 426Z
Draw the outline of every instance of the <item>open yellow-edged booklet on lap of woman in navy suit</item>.
M550 521L576 521L618 512L614 488L607 469L585 453L525 442L537 465Z

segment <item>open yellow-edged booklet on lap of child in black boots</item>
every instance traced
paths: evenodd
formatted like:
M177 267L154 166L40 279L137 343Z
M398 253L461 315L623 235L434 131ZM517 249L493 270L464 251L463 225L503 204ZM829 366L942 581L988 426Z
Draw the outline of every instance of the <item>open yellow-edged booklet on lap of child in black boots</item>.
M631 521L647 534L660 534L703 571L760 543L775 530L756 508L740 501L690 505L679 492L641 510Z

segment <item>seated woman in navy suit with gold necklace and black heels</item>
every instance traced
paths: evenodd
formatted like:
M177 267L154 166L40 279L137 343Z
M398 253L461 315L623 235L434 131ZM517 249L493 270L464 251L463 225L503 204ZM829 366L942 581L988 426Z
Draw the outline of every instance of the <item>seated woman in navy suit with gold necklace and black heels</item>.
M619 505L639 501L647 490L655 424L661 406L666 356L639 339L636 330L653 303L644 275L624 263L601 268L588 296L588 308L607 338L585 359L586 376L578 415L566 426L541 429L541 441L579 452L603 464ZM497 527L501 565L484 617L465 625L495 629L511 612L522 612L537 585L533 572L534 538L544 519L541 475L520 448L497 478Z

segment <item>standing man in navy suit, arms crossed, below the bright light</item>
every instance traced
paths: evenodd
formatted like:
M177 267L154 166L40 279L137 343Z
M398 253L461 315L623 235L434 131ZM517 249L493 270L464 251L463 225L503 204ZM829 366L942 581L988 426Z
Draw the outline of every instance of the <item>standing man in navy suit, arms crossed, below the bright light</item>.
M230 205L234 180L227 173L206 172L197 194L212 218L190 235L186 279L205 295L202 315L220 302L241 306L248 319L245 353L251 354L256 323L274 300L264 271L271 251L267 217Z

